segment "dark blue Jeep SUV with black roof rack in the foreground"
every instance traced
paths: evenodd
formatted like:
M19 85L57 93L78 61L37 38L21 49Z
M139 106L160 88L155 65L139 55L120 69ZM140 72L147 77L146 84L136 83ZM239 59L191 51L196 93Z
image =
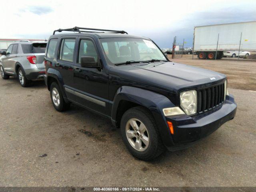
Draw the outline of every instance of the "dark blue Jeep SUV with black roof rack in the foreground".
M171 62L152 40L125 31L55 30L45 66L56 110L74 103L109 118L142 160L186 148L236 114L225 75Z

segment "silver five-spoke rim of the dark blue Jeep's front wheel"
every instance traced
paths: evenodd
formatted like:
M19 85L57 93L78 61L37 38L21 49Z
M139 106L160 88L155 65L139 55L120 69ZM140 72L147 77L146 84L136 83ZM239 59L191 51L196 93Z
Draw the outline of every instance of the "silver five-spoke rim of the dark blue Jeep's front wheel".
M140 120L136 118L128 120L126 123L126 137L134 149L144 151L148 148L148 130Z

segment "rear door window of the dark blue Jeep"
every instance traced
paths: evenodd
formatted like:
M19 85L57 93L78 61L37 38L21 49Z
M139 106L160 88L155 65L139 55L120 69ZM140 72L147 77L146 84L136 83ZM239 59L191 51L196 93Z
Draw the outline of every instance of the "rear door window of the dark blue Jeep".
M73 61L76 39L62 39L60 46L60 60Z

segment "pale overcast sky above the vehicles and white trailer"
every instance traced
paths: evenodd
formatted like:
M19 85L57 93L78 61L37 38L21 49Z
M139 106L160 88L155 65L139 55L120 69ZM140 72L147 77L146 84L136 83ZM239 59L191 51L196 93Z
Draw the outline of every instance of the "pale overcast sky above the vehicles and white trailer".
M194 26L256 20L256 0L12 0L0 10L0 38L48 39L74 26L125 30L160 48L192 46Z

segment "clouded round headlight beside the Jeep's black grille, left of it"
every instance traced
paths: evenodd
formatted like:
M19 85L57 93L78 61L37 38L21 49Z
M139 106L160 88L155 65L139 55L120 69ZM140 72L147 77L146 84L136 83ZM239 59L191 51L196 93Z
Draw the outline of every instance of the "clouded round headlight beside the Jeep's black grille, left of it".
M180 106L188 115L196 113L197 93L196 90L184 91L180 93Z

